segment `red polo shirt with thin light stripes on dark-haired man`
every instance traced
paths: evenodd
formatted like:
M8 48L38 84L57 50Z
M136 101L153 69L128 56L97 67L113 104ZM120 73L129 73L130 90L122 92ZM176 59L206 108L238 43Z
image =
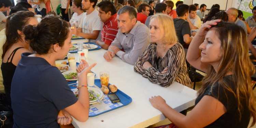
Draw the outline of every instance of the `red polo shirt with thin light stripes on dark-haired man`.
M101 31L101 41L107 45L111 45L112 41L116 38L118 32L117 13L112 15L108 21L103 23Z

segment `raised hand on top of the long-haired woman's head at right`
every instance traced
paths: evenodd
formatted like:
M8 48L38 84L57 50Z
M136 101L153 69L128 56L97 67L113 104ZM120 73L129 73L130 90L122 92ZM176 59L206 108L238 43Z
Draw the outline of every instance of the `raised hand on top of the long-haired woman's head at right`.
M217 25L219 22L221 22L221 19L215 19L211 21L205 22L201 28L197 31L197 36L204 37L206 33L210 30L210 28L214 25Z

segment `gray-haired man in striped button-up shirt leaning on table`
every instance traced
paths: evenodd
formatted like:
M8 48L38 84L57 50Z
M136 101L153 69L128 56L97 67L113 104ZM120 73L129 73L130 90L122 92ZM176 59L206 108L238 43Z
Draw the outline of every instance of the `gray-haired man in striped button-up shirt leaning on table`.
M132 6L124 6L117 12L117 22L119 29L116 38L103 57L111 61L117 55L124 62L134 65L150 42L149 29L137 22L137 12Z

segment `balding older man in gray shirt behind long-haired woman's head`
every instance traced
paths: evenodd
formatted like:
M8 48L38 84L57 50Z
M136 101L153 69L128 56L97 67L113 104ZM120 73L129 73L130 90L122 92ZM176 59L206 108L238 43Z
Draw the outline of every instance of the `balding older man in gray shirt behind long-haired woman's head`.
M244 29L245 33L247 33L247 27L245 23L237 17L238 10L236 8L229 8L226 13L228 14L228 22L241 26Z

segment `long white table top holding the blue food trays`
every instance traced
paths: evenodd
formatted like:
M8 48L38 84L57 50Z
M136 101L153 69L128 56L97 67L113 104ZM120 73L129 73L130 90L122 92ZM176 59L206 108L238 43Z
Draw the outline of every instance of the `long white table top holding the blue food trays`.
M153 125L165 119L165 117L150 104L148 98L151 96L160 95L176 111L183 111L195 104L195 90L177 82L166 88L153 84L142 75L134 72L132 65L123 62L117 56L113 57L110 62L106 61L103 58L105 51L104 49L99 49L88 52L89 64L97 63L92 69L96 73L95 79L99 79L100 71L109 71L109 83L116 85L118 89L130 96L132 102L116 110L89 117L86 122L79 122L73 118L72 124L74 127L143 128Z

